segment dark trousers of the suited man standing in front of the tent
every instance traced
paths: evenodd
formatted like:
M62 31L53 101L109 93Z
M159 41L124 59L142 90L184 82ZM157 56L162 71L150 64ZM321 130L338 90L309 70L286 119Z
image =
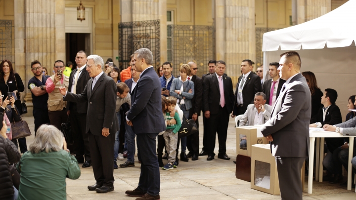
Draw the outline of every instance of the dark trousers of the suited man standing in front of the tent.
M306 157L275 157L282 200L303 200L301 170Z

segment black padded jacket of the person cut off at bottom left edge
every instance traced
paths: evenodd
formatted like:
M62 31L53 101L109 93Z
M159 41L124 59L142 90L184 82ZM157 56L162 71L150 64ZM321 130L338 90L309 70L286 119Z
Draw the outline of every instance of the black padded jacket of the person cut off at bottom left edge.
M13 196L10 165L20 160L21 155L14 143L0 135L0 200Z

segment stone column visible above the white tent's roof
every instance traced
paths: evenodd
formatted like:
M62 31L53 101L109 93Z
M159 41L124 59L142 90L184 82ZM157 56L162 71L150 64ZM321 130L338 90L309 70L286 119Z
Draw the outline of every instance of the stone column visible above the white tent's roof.
M310 21L330 11L331 0L297 0L297 23Z

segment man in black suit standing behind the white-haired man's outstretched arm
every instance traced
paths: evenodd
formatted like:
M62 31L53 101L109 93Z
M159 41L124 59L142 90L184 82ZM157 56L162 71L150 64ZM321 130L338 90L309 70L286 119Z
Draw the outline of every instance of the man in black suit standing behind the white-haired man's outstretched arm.
M76 56L78 68L74 69L69 76L68 91L74 94L83 92L88 80L87 54L79 51ZM86 134L88 101L84 103L67 102L67 114L71 122L71 132L73 135L74 154L78 163L84 163L82 167L91 165L89 135ZM85 161L83 159L85 157Z

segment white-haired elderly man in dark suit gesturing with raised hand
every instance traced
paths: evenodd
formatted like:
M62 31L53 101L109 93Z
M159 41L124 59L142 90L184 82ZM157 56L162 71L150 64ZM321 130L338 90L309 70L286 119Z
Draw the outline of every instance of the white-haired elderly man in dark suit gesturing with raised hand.
M59 90L65 101L88 104L86 133L89 134L91 163L96 183L91 191L107 193L114 190L114 142L119 123L115 113L117 86L103 72L104 61L98 55L88 56L87 71L91 79L81 94Z

